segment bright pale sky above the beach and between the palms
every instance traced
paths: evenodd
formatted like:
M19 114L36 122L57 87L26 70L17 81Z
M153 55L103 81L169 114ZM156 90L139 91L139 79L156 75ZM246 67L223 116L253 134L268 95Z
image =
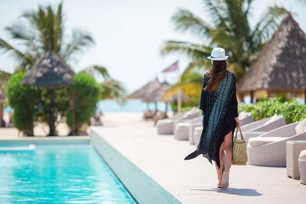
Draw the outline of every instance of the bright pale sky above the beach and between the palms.
M57 6L61 1L53 0L0 0L0 38L12 45L4 30L24 11L37 9L38 4L51 3ZM306 5L298 0L256 0L252 4L253 26L268 5L278 3L296 15L293 17L300 28L306 31ZM180 72L190 59L182 55L161 56L161 47L166 40L180 40L202 43L190 33L175 31L171 17L179 9L189 9L194 14L210 22L201 0L65 0L65 33L80 28L89 32L95 45L84 53L78 63L71 67L78 71L91 65L101 65L108 69L115 80L123 83L128 93L140 88L156 77L163 82L173 83L177 73L160 72L179 60ZM13 72L14 60L8 54L0 53L0 70Z

